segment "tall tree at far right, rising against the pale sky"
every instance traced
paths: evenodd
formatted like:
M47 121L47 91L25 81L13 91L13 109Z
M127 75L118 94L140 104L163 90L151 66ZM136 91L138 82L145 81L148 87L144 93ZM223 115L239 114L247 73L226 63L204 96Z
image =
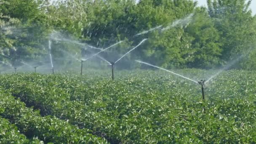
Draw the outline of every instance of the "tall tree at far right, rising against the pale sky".
M255 44L256 27L249 5L251 0L207 0L208 11L221 32L221 59L228 61Z

